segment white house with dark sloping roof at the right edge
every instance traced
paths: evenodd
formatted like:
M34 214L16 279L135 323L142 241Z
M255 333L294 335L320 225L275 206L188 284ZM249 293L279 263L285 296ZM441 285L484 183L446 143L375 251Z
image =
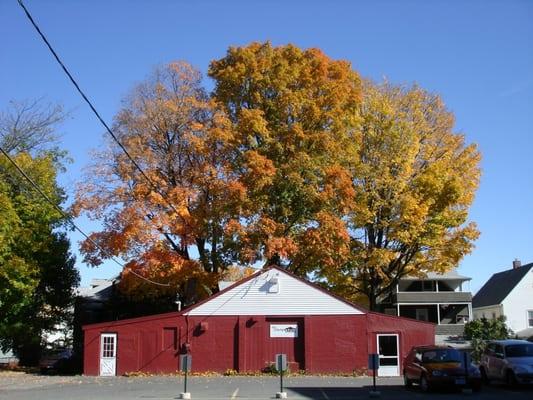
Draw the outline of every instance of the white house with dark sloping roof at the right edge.
M474 318L507 318L507 326L516 334L533 328L533 263L498 272L483 285L472 300Z

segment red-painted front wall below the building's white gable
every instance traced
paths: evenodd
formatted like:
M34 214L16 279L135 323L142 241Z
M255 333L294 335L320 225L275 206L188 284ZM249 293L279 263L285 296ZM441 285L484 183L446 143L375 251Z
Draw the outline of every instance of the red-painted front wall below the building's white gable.
M298 324L298 338L270 338L271 323ZM193 371L258 371L287 354L292 370L352 372L366 368L377 333L398 333L401 358L412 346L434 343L434 326L383 314L332 316L185 317L179 313L84 327L84 373L98 375L100 333L117 333L117 375L170 373L179 354L193 356ZM186 346L186 343L189 343Z

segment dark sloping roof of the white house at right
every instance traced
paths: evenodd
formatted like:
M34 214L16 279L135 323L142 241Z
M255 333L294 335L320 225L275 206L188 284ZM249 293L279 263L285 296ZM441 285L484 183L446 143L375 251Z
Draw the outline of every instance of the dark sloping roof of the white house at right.
M501 304L532 267L530 263L492 275L472 299L472 307Z

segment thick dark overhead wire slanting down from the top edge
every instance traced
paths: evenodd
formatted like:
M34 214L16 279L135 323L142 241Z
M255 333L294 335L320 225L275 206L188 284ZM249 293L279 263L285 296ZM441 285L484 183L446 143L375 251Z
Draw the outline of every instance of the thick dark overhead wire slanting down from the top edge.
M74 85L74 87L76 88L76 90L78 91L78 93L81 95L81 97L83 98L83 100L85 100L85 102L89 105L89 107L91 108L92 112L94 113L94 115L96 115L96 118L98 118L98 120L100 121L100 123L105 127L107 133L109 133L109 135L111 135L111 137L113 138L113 140L119 145L119 147L122 149L122 151L124 152L124 154L126 154L126 156L130 159L130 161L132 162L132 164L139 170L139 172L141 173L141 175L146 179L146 181L150 184L150 186L152 187L152 189L154 191L156 191L157 193L159 193L161 195L161 197L163 198L163 200L165 200L165 202L170 206L170 208L176 213L179 215L179 212L178 210L176 210L176 208L174 207L174 205L164 196L163 193L161 193L161 191L159 190L159 188L154 184L154 182L148 177L148 175L146 175L146 173L142 170L142 168L139 166L139 164L133 159L133 157L128 153L128 150L126 150L126 148L124 147L124 145L120 142L120 140L118 140L118 138L116 137L116 135L113 133L113 131L111 130L111 128L109 128L109 126L105 123L105 121L103 120L103 118L100 116L100 114L98 113L98 111L96 111L96 108L93 106L93 104L91 103L91 101L87 98L87 96L85 95L85 93L81 90L80 86L78 85L78 83L76 82L76 80L72 77L72 74L69 72L69 70L67 69L67 67L65 67L65 64L63 64L63 62L61 61L61 59L59 58L59 56L57 55L56 51L53 49L52 45L50 44L50 42L48 41L48 39L46 39L46 36L44 36L44 34L41 32L41 29L39 29L39 26L37 25L37 23L33 20L30 12L28 11L28 9L26 8L26 6L24 5L24 3L22 2L22 0L17 0L19 5L22 7L22 9L24 10L24 13L26 14L26 17L28 17L28 19L30 20L31 24L33 25L33 27L35 28L35 30L37 31L37 33L39 34L39 36L41 36L41 39L43 39L44 43L46 44L46 46L48 47L48 49L50 50L50 52L52 53L52 55L54 56L54 58L56 59L56 61L58 62L58 64L61 66L61 68L63 69L63 71L65 72L65 74L67 74L68 78L70 79L70 81L72 82L72 84Z

